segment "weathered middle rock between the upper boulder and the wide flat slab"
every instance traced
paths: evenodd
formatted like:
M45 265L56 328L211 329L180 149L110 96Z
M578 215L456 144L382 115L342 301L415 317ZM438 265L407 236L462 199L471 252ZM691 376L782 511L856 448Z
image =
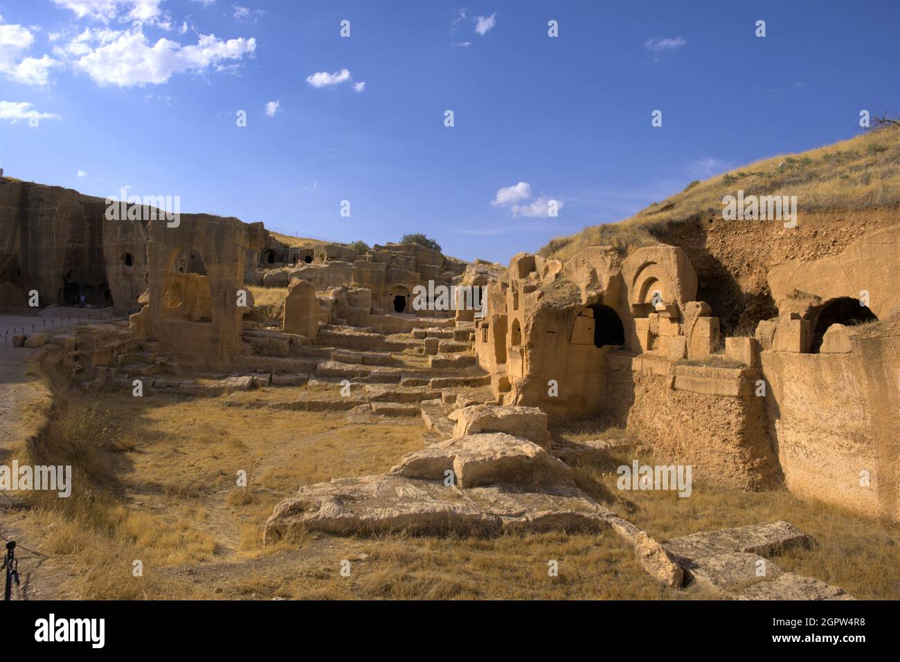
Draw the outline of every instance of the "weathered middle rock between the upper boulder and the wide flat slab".
M552 491L575 485L568 465L534 442L503 433L469 434L432 444L404 456L391 471L407 478L444 480L451 470L465 489L506 484Z

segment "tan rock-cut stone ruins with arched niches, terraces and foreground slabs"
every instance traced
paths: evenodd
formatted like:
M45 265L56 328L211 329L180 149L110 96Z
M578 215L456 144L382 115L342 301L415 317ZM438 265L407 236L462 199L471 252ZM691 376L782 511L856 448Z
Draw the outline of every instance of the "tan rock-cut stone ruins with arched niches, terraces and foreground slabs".
M183 214L178 228L113 225L97 199L33 184L5 182L0 198L2 303L19 305L32 288L63 302L73 282L96 296L105 283L112 307L132 313L15 339L45 345L47 360L85 389L140 380L202 397L341 383L349 395L301 388L275 401L231 395L224 405L421 418L425 449L383 476L301 488L275 508L266 541L295 528L612 531L670 586L847 597L765 560L811 543L788 523L660 543L596 503L575 485L571 463L608 449L565 447L548 427L589 418L635 431L657 457L713 484L783 482L799 496L900 521L896 228L837 256L772 268L779 317L760 320L753 335L725 336L679 246L626 256L591 246L565 261L519 254L504 269L413 245L363 254L285 246L262 224L205 214ZM415 288L429 282L476 288L483 309L461 300L452 310L412 309ZM278 327L247 318L247 285L288 289ZM879 297L861 306L867 285ZM770 568L763 578L751 574L760 559Z

